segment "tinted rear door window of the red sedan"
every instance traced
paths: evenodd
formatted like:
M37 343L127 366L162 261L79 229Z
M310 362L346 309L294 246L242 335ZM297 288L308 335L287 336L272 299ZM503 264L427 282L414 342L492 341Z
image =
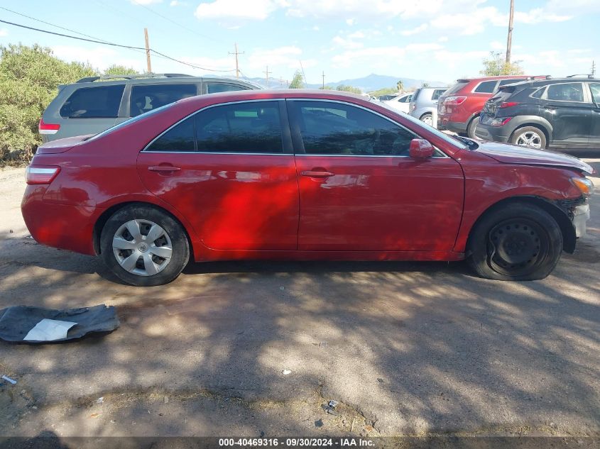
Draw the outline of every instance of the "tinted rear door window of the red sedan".
M198 151L283 153L278 101L252 101L196 114Z

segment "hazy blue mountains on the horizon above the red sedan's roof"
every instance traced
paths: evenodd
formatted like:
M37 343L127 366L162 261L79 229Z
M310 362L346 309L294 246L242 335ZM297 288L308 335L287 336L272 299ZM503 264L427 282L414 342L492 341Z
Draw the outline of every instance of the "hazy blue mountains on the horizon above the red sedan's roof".
M255 82L261 84L261 86L266 86L266 79L264 78L244 78L248 81ZM325 85L336 88L341 84L345 84L351 87L358 87L362 92L373 92L378 89L385 89L386 87L396 87L396 83L398 81L402 81L405 89L411 89L413 87L421 87L423 83L427 83L430 87L446 87L448 85L447 82L442 81L429 81L427 79L414 79L414 78L405 78L405 77L393 77L390 75L380 75L371 73L366 77L354 78L354 79L342 79L342 81L338 82L327 82L327 78L325 81ZM288 79L288 82L291 80ZM308 89L319 89L322 84L306 84ZM286 84L286 80L283 82L280 79L269 79L269 88L271 89L286 89L288 84Z

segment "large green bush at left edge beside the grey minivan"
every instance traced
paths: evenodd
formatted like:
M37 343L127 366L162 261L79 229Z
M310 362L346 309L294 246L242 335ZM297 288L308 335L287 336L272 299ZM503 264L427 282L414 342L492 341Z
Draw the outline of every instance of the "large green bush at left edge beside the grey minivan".
M46 106L69 84L97 74L89 65L65 62L40 45L0 46L0 164L28 161L40 144L38 123Z

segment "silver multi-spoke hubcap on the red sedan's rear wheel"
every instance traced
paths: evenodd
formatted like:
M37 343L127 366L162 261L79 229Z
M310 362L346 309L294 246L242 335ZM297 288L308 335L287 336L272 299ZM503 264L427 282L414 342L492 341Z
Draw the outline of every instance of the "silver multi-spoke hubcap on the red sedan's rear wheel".
M131 220L121 225L114 233L112 250L119 265L138 276L163 271L173 255L168 233L149 220Z

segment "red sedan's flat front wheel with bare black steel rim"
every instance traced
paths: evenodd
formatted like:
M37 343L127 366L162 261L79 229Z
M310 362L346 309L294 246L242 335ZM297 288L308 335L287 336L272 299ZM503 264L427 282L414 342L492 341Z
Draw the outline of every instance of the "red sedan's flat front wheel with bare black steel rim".
M544 279L562 253L562 232L538 206L498 206L480 219L467 243L467 261L481 277L501 281Z

